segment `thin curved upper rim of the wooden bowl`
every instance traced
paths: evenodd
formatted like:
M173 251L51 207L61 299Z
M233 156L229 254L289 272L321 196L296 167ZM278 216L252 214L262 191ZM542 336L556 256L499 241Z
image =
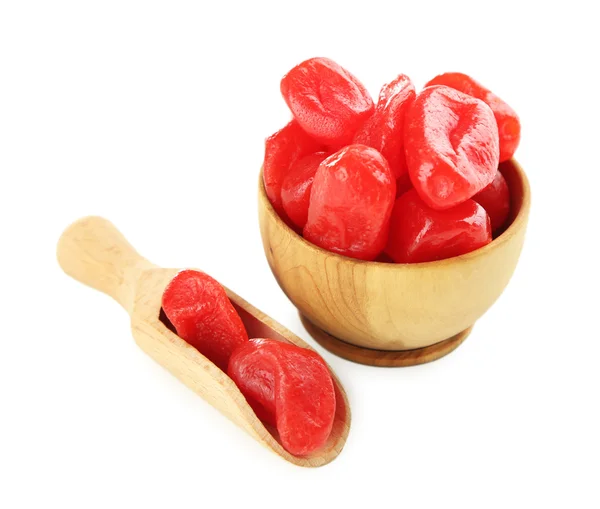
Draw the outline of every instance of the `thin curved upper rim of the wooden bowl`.
M296 240L299 241L300 243L302 243L306 248L308 248L309 250L312 250L318 254L326 255L326 256L330 256L330 257L337 257L346 263L350 262L351 264L357 265L357 266L374 266L374 267L380 267L380 268L395 268L395 269L443 268L448 265L467 262L467 261L485 256L492 250L497 249L500 246L509 242L512 239L512 237L514 237L517 234L517 232L519 232L525 226L525 223L527 222L527 218L529 216L529 209L531 206L531 189L529 186L529 179L527 178L527 175L525 174L523 167L517 162L517 160L515 158L509 159L508 161L504 161L504 163L511 163L514 166L516 173L519 177L519 180L521 181L521 186L523 188L523 197L522 197L522 202L521 202L521 208L519 209L519 212L517 213L517 215L513 219L513 221L510 223L508 228L506 228L506 230L504 230L498 237L493 239L492 242L490 242L489 244L486 244L483 247L480 247L479 249L470 251L469 253L465 253L465 254L462 254L459 256L453 256L451 258L444 258L443 260L434 260L434 261L430 261L430 262L396 263L396 262L378 262L378 261L374 261L374 260L359 260L357 258L351 258L349 256L345 256L345 255L336 253L334 251L328 251L327 249L323 249L323 248L313 244L312 242L309 242L302 235L299 235L295 230L290 228L285 223L285 221L283 221L283 219L281 219L281 217L279 217L279 214L273 208L271 201L267 197L267 192L265 189L265 184L264 184L264 179L263 179L263 171L264 170L263 170L262 166L260 168L260 174L259 174L259 186L258 186L259 187L259 199L265 206L267 213L271 216L272 219L275 220L275 222L280 227L283 227L284 230L287 230L288 233L292 237L296 237ZM501 164L504 164L504 163L501 163Z

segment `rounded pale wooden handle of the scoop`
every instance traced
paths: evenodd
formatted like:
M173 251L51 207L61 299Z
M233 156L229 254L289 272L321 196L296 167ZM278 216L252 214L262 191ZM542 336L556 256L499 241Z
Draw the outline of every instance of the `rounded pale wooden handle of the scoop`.
M102 217L75 221L58 240L56 254L69 276L110 295L129 314L133 311L140 275L154 267Z

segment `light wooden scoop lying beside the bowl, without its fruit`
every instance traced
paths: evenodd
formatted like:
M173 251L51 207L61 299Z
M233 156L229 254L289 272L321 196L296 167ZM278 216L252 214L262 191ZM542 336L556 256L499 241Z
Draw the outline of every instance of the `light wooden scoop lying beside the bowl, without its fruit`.
M335 374L337 409L325 447L309 456L293 456L277 441L277 432L270 432L256 417L235 383L161 321L163 291L178 269L162 269L142 258L112 223L100 217L86 217L69 226L58 241L57 256L68 275L110 295L125 308L142 350L261 444L303 467L325 465L341 452L350 429L350 410ZM288 341L310 349L285 327L225 290L249 337Z

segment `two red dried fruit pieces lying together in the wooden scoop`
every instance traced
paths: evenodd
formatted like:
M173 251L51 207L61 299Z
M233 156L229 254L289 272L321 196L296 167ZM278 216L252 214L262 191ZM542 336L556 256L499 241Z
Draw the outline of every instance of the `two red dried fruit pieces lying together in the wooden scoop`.
M277 429L288 452L305 456L325 445L336 401L319 355L273 339L249 340L224 288L203 272L178 273L162 308L177 335L225 371L257 417Z

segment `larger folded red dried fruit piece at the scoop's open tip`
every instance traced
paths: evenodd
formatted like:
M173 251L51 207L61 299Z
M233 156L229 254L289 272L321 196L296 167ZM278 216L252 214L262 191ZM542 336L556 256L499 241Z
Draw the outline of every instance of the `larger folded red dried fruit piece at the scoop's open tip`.
M335 416L335 389L317 353L251 339L233 353L227 374L257 417L277 428L289 453L305 456L325 445Z

